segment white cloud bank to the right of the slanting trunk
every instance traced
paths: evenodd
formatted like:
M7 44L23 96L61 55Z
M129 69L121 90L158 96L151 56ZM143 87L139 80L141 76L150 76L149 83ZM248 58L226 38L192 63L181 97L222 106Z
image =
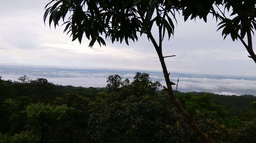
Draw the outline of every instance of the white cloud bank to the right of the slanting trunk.
M211 79L181 77L178 90L183 92L198 91L229 95L255 95L256 81L245 79Z

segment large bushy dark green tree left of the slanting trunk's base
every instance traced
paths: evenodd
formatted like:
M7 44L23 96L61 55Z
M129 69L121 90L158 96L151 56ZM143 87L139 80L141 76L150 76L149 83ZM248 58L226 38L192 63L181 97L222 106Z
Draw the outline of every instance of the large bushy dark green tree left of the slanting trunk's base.
M118 94L114 90L99 94L89 104L91 142L195 140L191 139L195 137L193 132L169 104L168 96L156 94L157 85L153 83L148 74L138 72L131 83L120 85Z

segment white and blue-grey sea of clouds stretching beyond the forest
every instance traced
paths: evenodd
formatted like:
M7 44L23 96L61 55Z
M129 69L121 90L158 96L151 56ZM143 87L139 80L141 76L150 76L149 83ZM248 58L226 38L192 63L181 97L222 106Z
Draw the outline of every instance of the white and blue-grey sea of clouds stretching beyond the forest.
M105 87L106 78L111 74L119 74L130 81L137 71L110 69L77 69L35 66L0 66L0 76L4 80L17 81L20 76L30 79L46 78L49 82L59 85L73 85L76 87ZM153 81L160 81L165 85L163 74L159 71L139 71L149 73ZM204 75L171 73L171 80L177 83L181 92L210 92L222 95L256 95L256 77ZM174 87L176 88L176 87Z

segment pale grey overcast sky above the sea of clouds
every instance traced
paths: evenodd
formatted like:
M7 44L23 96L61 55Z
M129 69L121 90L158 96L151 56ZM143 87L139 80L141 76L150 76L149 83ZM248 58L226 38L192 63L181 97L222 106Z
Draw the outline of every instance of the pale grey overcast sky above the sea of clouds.
M107 43L106 47L83 39L71 42L63 27L50 29L42 16L48 0L1 0L0 64L68 66L80 68L161 70L157 53L145 37L136 43ZM241 42L223 41L215 20L178 18L175 36L165 40L164 55L170 71L183 73L256 76L256 65ZM253 37L254 39L254 37ZM255 46L255 40L253 40ZM254 48L255 49L255 48Z

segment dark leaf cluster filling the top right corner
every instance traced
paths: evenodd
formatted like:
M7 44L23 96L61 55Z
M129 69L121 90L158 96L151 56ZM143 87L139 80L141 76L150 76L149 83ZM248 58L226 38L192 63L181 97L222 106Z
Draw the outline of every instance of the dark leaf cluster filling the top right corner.
M229 12L230 18L222 17L222 21L218 24L222 30L224 39L230 34L232 40L237 40L238 37L244 39L246 34L256 30L256 7L255 1L224 1L224 8ZM232 10L231 10L232 8ZM233 17L233 18L231 18Z

